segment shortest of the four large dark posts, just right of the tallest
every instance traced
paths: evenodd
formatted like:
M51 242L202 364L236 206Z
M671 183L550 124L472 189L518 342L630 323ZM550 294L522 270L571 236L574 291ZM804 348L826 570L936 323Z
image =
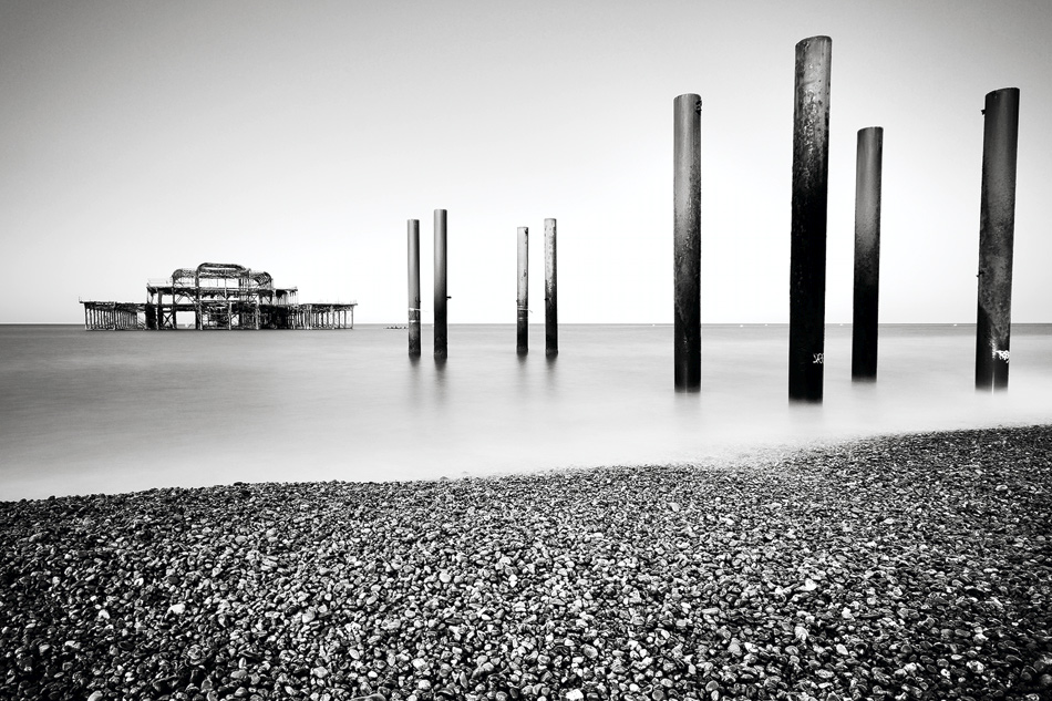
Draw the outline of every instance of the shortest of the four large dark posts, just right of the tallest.
M880 178L884 130L858 130L855 159L855 299L852 379L877 379L877 300L880 289Z

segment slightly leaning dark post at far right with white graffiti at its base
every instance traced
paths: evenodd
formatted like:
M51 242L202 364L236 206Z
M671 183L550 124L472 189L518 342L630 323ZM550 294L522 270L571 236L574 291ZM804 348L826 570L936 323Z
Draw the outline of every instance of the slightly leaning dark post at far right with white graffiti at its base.
M1008 388L1009 337L1012 329L1019 89L1003 87L987 93L982 113L976 388L1003 390Z

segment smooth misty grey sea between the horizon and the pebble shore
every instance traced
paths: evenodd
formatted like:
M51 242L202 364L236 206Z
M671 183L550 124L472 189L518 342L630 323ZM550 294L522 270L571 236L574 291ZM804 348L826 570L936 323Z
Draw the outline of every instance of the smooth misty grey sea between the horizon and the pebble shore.
M826 331L825 401L787 401L785 326L705 327L702 391L670 326L84 331L0 326L0 499L158 486L381 481L707 460L888 432L1052 423L1052 326L1012 330L1007 392L973 386L974 327L886 326L879 380Z

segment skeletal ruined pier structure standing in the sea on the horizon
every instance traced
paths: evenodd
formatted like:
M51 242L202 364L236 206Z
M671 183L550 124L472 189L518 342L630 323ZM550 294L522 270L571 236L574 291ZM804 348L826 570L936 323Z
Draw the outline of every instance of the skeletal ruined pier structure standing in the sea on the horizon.
M269 272L203 262L146 284L146 302L84 301L84 328L175 330L178 313L195 329L352 329L357 302L299 303L295 287L275 287Z

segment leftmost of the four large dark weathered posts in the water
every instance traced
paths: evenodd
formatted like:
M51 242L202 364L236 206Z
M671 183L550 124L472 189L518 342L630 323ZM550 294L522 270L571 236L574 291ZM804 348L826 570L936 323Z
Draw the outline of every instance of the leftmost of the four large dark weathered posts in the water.
M701 97L673 104L673 363L675 390L701 389Z

